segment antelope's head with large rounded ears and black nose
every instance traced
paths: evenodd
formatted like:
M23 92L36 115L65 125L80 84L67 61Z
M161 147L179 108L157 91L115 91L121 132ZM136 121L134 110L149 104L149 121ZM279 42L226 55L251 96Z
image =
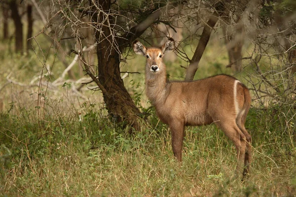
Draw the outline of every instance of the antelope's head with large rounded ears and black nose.
M135 41L133 48L136 54L146 57L146 73L162 73L165 71L165 65L162 58L165 53L173 51L175 40L169 38L161 47L146 48L141 42Z

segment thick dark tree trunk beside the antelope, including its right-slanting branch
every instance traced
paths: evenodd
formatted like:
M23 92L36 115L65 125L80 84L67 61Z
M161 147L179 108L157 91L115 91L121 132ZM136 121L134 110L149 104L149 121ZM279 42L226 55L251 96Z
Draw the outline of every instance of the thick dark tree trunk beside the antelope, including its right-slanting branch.
M104 11L108 12L111 10L111 0L98 0L96 2ZM102 26L102 32L104 32L104 34L96 31L95 36L98 43L99 82L97 82L97 84L99 87L101 85L103 86L100 87L100 89L103 93L106 108L116 122L124 122L136 130L140 130L141 127L141 121L139 119L141 112L125 89L123 80L120 77L120 54L133 40L144 33L162 13L165 13L166 10L173 7L173 5L169 4L168 6L155 10L142 22L131 28L128 33L122 35L120 38L116 38L116 40L112 40L115 39L111 36L112 24L107 23L107 20L104 19L106 16L100 12L98 17L93 17L93 20L98 24L104 23ZM97 19L98 21L96 21ZM111 17L109 21L112 22ZM112 46L114 43L117 43L118 47ZM94 81L95 80L96 79L94 79Z

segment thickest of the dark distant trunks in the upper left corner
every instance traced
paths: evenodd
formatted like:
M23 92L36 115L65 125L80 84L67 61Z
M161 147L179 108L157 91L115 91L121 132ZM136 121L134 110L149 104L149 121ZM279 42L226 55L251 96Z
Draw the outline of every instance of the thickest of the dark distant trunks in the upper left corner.
M16 1L9 1L9 7L15 27L15 51L23 54L23 24L17 9Z

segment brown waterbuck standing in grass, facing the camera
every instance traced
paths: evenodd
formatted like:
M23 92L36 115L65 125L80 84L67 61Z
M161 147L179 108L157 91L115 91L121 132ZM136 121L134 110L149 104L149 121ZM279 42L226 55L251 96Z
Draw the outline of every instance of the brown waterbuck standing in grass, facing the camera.
M146 93L159 119L170 128L177 160L182 162L185 126L215 123L234 143L238 160L236 172L238 174L244 164L244 178L252 157L251 135L244 126L251 105L248 88L228 75L191 82L168 81L163 56L174 50L172 38L159 48L146 48L139 41L133 43L133 48L136 54L147 58Z

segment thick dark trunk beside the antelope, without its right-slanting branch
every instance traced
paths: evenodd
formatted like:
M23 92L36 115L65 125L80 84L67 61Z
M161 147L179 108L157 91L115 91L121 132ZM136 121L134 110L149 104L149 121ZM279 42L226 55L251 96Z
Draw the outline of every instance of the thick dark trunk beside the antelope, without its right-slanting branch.
M103 10L110 10L111 1L99 0ZM107 23L104 21L102 13L99 14L100 24ZM111 18L109 19L110 21ZM97 39L97 57L99 81L106 91L103 92L104 102L111 117L116 122L126 122L134 129L140 129L139 115L140 110L136 107L133 99L124 87L123 80L120 76L120 52L111 46L111 26L105 24L102 26L102 32L96 32Z

